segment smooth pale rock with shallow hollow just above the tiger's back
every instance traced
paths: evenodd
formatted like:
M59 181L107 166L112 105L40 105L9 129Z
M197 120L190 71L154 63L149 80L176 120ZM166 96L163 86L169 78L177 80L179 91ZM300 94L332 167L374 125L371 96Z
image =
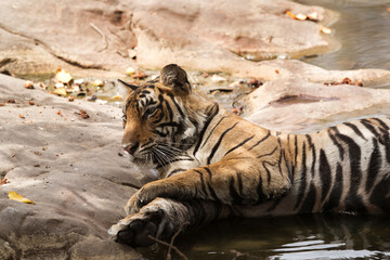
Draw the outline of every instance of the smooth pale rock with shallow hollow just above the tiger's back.
M246 98L244 117L268 129L311 132L351 118L388 116L389 100L389 89L326 86L299 77L276 79Z

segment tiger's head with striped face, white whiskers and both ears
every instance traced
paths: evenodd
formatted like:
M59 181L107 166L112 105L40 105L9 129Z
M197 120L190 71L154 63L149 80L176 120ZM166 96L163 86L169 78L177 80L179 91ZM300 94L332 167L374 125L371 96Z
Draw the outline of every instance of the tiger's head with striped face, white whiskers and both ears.
M134 162L165 165L191 147L212 102L192 90L186 73L167 65L159 80L131 91L123 106L121 146Z

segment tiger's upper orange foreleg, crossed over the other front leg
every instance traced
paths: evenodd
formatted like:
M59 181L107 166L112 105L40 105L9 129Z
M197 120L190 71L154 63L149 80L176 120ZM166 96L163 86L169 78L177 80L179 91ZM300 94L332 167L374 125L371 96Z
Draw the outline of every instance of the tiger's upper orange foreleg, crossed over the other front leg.
M207 199L225 205L256 205L281 197L289 191L291 177L287 170L281 171L281 166L276 162L255 162L257 164L252 160L219 161L150 182L129 199L126 210L135 213L156 197L181 202Z

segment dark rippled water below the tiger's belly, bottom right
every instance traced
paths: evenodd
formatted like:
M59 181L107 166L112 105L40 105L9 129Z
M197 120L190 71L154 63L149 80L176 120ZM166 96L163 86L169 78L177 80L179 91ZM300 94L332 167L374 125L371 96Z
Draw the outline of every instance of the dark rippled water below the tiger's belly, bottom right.
M390 259L390 218L318 213L224 220L174 244L188 259L203 260ZM165 249L143 253L162 259Z

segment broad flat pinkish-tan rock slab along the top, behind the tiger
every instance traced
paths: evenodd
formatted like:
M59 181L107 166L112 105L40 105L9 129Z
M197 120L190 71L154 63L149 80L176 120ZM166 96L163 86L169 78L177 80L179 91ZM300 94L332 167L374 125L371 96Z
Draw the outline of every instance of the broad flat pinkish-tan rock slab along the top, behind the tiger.
M318 22L286 14L315 12ZM326 52L336 40L321 26L337 14L320 6L277 0L234 1L5 1L0 10L0 72L80 76L128 66L244 74L276 56ZM136 47L136 49L133 49ZM133 60L136 56L136 62ZM107 75L110 75L107 73Z

